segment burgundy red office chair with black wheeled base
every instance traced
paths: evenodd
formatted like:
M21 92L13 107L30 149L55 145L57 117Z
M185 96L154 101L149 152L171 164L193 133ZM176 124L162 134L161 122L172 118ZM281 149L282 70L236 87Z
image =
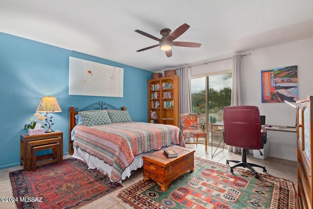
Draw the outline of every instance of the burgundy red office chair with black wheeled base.
M224 141L226 144L243 148L242 162L226 160L236 163L230 167L233 168L243 166L249 168L255 178L259 178L258 173L252 166L263 168L263 172L267 172L265 167L253 163L246 162L247 149L262 149L266 142L266 130L261 130L260 113L258 107L255 106L228 106L223 111L224 122Z

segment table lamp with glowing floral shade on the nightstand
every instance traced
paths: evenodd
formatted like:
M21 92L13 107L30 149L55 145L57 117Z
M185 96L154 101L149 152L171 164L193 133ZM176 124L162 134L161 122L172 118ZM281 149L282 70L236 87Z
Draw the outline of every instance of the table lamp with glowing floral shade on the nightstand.
M38 108L37 108L37 113L45 113L45 126L48 127L48 129L45 131L46 133L54 132L51 129L51 126L54 124L52 122L52 117L53 116L48 116L49 113L59 113L62 112L58 101L55 97L53 96L44 96L43 99L41 100Z

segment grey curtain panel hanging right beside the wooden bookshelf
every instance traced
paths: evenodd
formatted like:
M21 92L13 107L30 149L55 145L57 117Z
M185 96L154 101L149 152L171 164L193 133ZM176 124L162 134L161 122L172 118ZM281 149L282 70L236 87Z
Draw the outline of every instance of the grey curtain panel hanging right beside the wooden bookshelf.
M179 74L179 115L191 113L190 69L187 66L178 69Z

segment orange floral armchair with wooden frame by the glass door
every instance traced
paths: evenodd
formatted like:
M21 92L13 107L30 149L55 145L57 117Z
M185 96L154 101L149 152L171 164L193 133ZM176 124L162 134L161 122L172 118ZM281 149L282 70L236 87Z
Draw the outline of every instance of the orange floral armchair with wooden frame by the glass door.
M197 114L186 113L180 115L180 125L182 127L182 135L186 144L205 144L205 151L207 150L207 133L204 132L204 125L198 123ZM198 127L202 126L202 129ZM196 138L196 142L189 138ZM204 138L204 143L198 138Z

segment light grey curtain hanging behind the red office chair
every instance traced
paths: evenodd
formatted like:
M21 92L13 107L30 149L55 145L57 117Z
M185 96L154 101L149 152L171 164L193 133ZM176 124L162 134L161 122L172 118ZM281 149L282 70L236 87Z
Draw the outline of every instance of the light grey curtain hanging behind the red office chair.
M243 67L241 54L233 56L233 73L230 105L245 105ZM228 151L240 153L241 148L228 146Z

